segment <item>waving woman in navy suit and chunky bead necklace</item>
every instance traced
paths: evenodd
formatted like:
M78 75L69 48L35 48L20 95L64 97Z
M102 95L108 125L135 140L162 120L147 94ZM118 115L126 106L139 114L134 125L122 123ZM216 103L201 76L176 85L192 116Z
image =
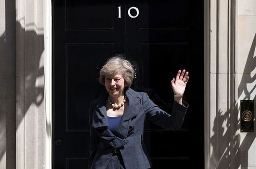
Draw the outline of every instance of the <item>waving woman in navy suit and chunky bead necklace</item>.
M175 93L172 115L161 110L144 92L130 88L134 69L128 60L112 57L100 71L107 92L90 104L90 157L88 169L149 169L143 142L145 119L164 129L182 126L188 104L182 100L189 76L178 71L171 80Z

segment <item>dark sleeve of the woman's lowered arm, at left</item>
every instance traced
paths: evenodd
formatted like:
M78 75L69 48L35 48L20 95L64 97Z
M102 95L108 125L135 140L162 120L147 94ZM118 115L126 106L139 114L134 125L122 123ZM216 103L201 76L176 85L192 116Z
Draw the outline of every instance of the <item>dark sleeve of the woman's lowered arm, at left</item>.
M100 143L100 137L97 134L97 132L92 127L92 117L93 117L93 108L92 104L90 104L89 109L89 122L90 122L90 144L89 144L89 162L88 162L88 169L91 169L91 165L94 160L94 156L96 154L96 151L98 149L98 145Z

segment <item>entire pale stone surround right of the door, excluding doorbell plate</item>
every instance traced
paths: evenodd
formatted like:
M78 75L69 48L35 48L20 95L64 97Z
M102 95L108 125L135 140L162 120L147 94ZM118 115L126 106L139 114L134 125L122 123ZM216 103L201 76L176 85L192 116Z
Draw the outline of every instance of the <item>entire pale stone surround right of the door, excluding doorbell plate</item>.
M256 101L256 1L208 2L206 168L256 169L256 124L240 132L240 101Z

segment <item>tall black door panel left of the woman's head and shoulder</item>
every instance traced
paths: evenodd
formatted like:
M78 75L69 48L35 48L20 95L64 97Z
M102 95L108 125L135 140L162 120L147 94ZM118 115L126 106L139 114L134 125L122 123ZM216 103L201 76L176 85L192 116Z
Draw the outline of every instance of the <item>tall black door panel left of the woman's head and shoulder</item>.
M114 52L114 44L67 44L67 131L86 131L89 129L88 107L90 98L99 96L98 70L106 55ZM97 59L95 59L97 58ZM88 68L92 68L88 70Z

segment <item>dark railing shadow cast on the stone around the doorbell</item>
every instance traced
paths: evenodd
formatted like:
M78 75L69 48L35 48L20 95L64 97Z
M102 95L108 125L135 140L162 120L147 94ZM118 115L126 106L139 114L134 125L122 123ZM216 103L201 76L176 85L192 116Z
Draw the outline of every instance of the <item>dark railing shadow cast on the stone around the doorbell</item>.
M247 88L247 84L252 84L256 81L256 75L253 77L249 76L256 68L255 50L256 34L249 50L243 77L238 87L238 98L241 100L249 100L251 98L250 95L256 89L256 86L250 90ZM245 97L241 98L243 93ZM255 99L256 96L254 96L253 100ZM240 110L240 108L238 108L238 104L236 103L225 113L218 111L214 120L214 135L210 138L210 143L213 147L213 154L210 157L210 166L212 169L216 168L216 165L218 165L218 169L239 169L240 166L243 169L247 169L248 167L248 151L256 138L256 133L255 131L248 132L241 143L240 135L237 133L240 130L241 119L237 119L237 110ZM256 124L254 122L255 126Z

